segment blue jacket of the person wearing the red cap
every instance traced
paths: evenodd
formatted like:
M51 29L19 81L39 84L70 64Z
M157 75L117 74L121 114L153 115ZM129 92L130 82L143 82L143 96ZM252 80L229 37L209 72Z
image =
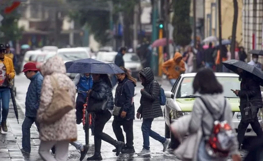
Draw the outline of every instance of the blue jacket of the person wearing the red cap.
M41 94L43 76L40 74L40 72L37 72L34 76L30 78L30 81L31 82L28 86L28 92L26 95L25 116L36 118L37 109L40 103L40 94Z

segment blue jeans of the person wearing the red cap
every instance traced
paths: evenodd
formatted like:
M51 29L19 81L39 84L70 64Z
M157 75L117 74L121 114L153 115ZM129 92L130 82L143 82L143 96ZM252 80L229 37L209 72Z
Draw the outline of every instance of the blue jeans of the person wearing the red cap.
M30 143L30 128L32 124L35 123L39 131L39 124L37 123L37 118L25 117L22 124L22 147L26 152L31 151Z

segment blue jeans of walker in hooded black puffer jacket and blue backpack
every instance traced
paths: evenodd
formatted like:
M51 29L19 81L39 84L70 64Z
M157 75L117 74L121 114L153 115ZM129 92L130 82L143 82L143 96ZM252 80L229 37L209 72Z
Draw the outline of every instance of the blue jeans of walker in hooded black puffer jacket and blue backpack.
M154 138L155 140L164 143L166 138L161 137L161 135L157 134L153 130L151 130L151 123L153 119L143 119L141 124L141 131L143 137L143 148L146 150L150 149L150 137Z

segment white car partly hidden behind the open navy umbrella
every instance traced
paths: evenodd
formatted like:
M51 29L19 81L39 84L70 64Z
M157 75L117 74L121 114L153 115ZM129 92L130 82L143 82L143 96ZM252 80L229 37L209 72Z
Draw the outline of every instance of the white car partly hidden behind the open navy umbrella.
M64 63L73 60L90 58L89 53L86 49L78 48L78 47L58 49L57 55L62 57ZM74 79L76 73L67 73L67 76L69 76L71 79Z

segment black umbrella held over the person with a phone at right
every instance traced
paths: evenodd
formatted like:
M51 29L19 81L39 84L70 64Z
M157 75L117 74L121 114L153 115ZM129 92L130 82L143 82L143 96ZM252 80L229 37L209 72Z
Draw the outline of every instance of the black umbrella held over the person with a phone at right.
M224 66L226 66L227 69L230 69L237 74L238 74L237 68L240 68L240 69L243 69L243 70L255 75L256 77L259 78L260 85L263 86L263 72L260 69L258 69L257 67L252 66L248 63L239 61L239 60L235 60L235 59L226 60L222 63Z

